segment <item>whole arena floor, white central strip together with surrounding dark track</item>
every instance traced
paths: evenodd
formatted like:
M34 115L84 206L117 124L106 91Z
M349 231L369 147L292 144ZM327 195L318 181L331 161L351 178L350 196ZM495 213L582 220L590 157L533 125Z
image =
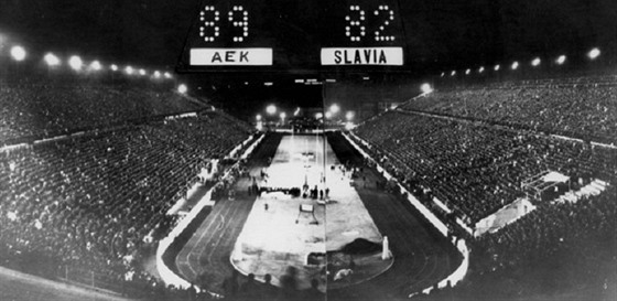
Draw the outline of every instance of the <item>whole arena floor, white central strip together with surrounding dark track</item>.
M314 135L269 135L248 162L251 179L239 179L235 200L218 201L178 251L178 275L223 293L223 280L234 270L253 273L259 282L268 273L280 286L293 267L300 289L316 279L328 300L398 299L445 278L459 259L443 236L410 204L377 189L375 182L382 178L376 171L365 168L359 179L344 173L340 161L362 164L344 138L332 146L323 141ZM251 195L252 178L262 187L279 190L317 185L324 196L328 187L329 202L324 205L318 194L317 200L283 192ZM301 205L306 211L300 212ZM383 236L392 255L386 260ZM334 279L351 267L353 275Z

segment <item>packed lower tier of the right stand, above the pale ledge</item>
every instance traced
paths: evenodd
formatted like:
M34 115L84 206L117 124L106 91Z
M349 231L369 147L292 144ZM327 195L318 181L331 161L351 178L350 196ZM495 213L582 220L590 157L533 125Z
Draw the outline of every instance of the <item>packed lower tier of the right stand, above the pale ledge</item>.
M485 123L388 111L355 132L410 191L431 191L468 225L524 196L521 182L546 170L582 184L617 178L615 150Z

